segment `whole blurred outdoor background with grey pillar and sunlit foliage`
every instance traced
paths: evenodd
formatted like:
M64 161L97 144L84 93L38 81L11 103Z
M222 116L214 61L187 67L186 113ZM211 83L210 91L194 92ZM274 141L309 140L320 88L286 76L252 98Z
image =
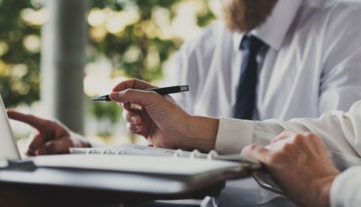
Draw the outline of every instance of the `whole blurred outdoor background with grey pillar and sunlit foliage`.
M219 8L219 0L0 0L5 106L105 144L142 143L127 133L117 104L90 99L128 78L160 84L174 52ZM11 124L23 151L33 130Z

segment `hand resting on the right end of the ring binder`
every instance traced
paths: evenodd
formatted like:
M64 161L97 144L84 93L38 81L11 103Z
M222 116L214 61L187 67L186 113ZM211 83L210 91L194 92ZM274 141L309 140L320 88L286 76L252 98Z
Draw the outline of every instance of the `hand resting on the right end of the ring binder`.
M270 145L249 145L242 154L260 160L297 206L329 206L331 185L340 172L317 135L284 131Z

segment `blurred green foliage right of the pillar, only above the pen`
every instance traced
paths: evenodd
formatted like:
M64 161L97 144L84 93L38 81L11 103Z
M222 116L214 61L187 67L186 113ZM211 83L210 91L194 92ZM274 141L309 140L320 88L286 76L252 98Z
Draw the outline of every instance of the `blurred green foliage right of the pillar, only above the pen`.
M142 30L142 23L150 21L152 12L155 8L170 8L179 0L92 0L91 8L109 8L114 11L132 7L138 10L138 21L127 25L119 34L111 34L106 31L106 35L101 40L90 38L91 45L96 48L91 58L97 55L105 55L112 60L114 66L114 76L117 72L127 77L139 78L145 81L153 81L162 76L161 63L168 59L171 52L174 52L180 45L181 39L174 38L170 40L162 40L158 36L149 37ZM171 17L174 13L171 12ZM137 35L135 35L137 34ZM178 43L178 44L177 44ZM139 52L139 58L131 61L123 61L124 55L130 48L135 48ZM148 48L153 47L159 52L160 62L153 68L148 68L145 57L148 55Z

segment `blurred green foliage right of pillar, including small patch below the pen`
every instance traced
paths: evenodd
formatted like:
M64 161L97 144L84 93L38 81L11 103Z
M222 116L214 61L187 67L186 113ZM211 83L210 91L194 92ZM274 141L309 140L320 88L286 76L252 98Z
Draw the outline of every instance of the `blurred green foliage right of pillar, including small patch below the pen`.
M125 76L143 79L148 82L160 79L162 77L162 63L169 59L171 53L175 52L183 43L179 36L171 38L161 38L158 34L149 34L147 28L151 28L153 33L159 33L160 29L153 17L157 10L166 10L168 12L169 22L175 17L175 6L182 0L92 0L91 8L99 8L104 13L106 8L112 11L136 9L139 17L135 22L128 24L118 33L105 34L100 32L100 37L92 36L90 29L90 42L94 48L91 51L90 61L96 60L98 56L105 55L113 64L113 76ZM205 5L205 12L197 14L197 24L206 26L211 20L214 20L214 14L210 11L208 1L201 0ZM108 13L109 13L108 10ZM92 27L92 26L91 26ZM104 31L101 26L93 26L93 31ZM96 30L97 29L97 30ZM127 60L127 53L133 51L137 53L136 58ZM156 64L150 65L147 57L154 54L158 56ZM154 58L154 57L153 57ZM118 121L118 113L114 105L93 103L91 105L92 114L101 119L105 115L110 120Z

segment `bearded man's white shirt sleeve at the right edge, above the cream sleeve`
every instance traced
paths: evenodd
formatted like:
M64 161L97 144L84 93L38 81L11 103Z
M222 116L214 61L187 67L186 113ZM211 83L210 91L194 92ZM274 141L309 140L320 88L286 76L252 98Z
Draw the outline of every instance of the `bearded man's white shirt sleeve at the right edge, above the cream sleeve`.
M330 14L321 51L318 112L347 111L361 99L361 11L338 4Z

